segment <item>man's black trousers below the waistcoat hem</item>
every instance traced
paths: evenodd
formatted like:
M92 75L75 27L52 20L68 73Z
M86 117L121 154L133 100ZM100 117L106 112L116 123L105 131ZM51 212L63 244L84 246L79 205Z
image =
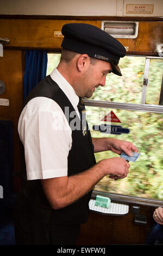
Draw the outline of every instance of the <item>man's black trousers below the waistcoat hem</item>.
M42 223L20 214L15 220L16 245L75 245L80 225Z

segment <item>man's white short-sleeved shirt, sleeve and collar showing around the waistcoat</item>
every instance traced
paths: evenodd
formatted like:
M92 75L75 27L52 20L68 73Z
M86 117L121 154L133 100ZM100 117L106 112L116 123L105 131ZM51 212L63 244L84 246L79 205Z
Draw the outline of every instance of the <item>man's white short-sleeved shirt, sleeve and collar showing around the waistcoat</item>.
M78 113L79 97L55 68L51 78L71 101ZM35 97L23 108L18 133L24 145L27 179L49 179L67 175L67 157L72 130L62 109L52 99Z

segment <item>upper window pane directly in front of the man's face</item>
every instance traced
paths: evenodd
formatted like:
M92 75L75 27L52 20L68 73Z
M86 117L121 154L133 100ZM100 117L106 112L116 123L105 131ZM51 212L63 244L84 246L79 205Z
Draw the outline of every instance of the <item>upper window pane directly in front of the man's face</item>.
M98 87L91 100L141 103L145 57L126 56L119 66L123 76L107 75L105 87Z

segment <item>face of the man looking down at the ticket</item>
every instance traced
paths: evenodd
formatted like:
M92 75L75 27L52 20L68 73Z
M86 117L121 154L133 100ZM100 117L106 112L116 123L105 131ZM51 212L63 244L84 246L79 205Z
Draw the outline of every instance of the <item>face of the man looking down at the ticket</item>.
M90 64L78 81L78 96L91 97L99 86L105 86L106 75L112 71L111 64L103 60L96 60Z

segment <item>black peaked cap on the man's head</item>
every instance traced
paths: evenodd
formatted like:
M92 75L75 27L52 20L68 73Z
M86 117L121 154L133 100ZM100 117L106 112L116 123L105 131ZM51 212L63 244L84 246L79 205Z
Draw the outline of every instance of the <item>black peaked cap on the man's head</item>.
M122 76L118 62L126 55L126 49L117 39L85 23L65 24L61 32L64 35L61 47L109 62L112 72Z

